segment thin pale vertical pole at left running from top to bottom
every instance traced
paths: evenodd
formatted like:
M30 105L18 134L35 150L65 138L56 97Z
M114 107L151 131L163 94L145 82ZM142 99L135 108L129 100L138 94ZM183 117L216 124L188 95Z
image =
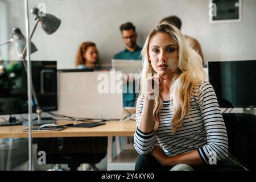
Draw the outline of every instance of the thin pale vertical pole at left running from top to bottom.
M24 11L25 11L25 24L26 24L26 44L27 44L27 97L28 97L28 170L32 171L33 160L32 160L32 92L31 92L31 61L30 61L30 23L28 16L28 0L24 0Z

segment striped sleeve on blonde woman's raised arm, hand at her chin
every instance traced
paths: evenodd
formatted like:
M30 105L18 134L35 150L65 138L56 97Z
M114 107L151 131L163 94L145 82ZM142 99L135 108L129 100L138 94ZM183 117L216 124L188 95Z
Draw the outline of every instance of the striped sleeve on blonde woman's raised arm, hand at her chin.
M140 103L138 103L140 102ZM139 154L150 154L153 150L155 143L154 143L154 132L151 131L150 133L144 133L143 131L138 129L138 123L141 120L141 113L143 109L144 103L144 96L142 99L138 97L137 106L136 106L136 132L134 134L134 147Z

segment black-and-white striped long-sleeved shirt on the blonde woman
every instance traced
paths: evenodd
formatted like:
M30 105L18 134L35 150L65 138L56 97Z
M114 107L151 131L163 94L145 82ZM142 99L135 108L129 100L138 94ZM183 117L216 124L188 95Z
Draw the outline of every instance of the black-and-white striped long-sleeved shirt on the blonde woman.
M223 160L228 157L228 135L221 110L217 102L216 94L209 82L204 82L201 90L200 84L192 89L189 116L186 115L183 127L172 133L171 119L173 115L172 101L164 101L159 112L159 128L150 133L137 130L134 134L134 147L139 154L150 154L155 141L167 156L184 154L196 150L201 159L209 164L213 157ZM138 100L139 101L139 100ZM137 101L136 123L141 119L144 96L141 103Z

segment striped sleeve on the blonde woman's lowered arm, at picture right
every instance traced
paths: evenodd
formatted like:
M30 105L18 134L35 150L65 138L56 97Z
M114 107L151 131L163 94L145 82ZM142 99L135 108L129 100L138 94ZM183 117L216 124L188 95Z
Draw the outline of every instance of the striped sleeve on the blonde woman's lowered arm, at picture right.
M207 164L228 158L228 135L217 97L212 85L204 82L197 98L205 130L207 144L198 148L201 159Z

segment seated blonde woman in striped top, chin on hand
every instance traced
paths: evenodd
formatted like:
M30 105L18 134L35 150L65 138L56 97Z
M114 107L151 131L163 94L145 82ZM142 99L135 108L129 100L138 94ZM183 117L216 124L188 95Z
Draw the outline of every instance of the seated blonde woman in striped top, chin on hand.
M212 85L204 81L201 57L181 32L159 24L142 56L135 170L242 169L229 157L225 123Z

